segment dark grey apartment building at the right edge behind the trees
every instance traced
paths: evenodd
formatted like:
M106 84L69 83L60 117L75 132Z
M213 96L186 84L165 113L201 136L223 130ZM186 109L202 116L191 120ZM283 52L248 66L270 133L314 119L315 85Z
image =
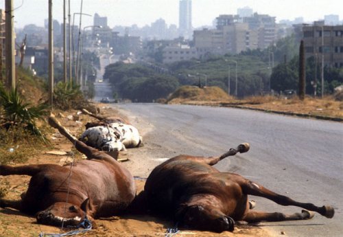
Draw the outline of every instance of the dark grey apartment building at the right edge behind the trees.
M324 65L343 67L343 25L324 25L324 21L304 25L303 41L307 58L321 61L324 56Z

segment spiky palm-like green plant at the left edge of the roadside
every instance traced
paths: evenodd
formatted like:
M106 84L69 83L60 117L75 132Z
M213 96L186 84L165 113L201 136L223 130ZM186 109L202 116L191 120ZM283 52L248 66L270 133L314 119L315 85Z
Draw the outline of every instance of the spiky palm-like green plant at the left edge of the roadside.
M36 120L44 120L44 116L48 114L47 104L33 106L25 103L17 89L8 92L4 87L0 87L0 104L2 112L1 124L3 126L6 126L6 128L20 126L45 140L45 136L36 125Z

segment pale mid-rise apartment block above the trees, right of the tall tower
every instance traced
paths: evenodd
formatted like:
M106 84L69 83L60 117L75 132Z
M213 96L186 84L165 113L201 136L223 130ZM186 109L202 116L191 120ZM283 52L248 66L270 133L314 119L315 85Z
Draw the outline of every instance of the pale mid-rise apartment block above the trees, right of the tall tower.
M196 30L193 41L200 56L204 54L239 54L247 49L264 49L276 40L275 17L265 14L222 14L215 30Z

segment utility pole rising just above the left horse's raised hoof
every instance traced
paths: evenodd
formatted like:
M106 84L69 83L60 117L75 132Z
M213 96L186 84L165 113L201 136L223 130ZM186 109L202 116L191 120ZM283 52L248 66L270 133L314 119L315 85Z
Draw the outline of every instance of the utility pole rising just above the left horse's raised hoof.
M49 105L52 108L54 95L54 35L52 27L52 0L49 0Z

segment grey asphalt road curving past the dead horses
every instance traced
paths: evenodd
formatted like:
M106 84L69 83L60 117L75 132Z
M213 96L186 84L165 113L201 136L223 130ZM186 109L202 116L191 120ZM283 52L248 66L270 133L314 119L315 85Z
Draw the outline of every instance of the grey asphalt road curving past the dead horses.
M250 151L216 165L266 188L315 205L332 205L335 216L316 214L309 221L260 223L274 236L343 236L343 126L339 122L209 106L163 104L113 105L153 127L143 138L156 144L150 159L178 154L221 155L241 142ZM139 126L144 123L137 124ZM157 149L158 146L158 149ZM161 149L162 148L162 149ZM147 154L149 155L149 154ZM163 159L161 159L163 160ZM152 167L153 168L153 167ZM268 199L252 197L256 210L299 212Z

